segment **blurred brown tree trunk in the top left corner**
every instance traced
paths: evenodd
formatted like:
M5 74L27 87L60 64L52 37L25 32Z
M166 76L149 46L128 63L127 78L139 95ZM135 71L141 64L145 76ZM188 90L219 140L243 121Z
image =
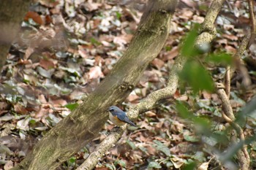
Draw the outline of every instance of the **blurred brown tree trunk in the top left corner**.
M0 71L4 66L20 22L29 10L30 0L0 0Z

